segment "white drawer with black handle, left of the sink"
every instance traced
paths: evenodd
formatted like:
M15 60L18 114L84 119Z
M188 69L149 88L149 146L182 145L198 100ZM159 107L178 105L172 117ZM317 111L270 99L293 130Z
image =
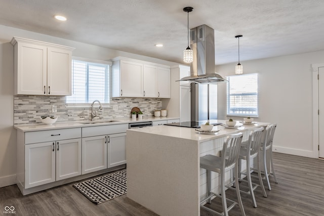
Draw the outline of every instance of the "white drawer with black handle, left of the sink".
M25 144L81 138L81 128L55 129L25 133Z

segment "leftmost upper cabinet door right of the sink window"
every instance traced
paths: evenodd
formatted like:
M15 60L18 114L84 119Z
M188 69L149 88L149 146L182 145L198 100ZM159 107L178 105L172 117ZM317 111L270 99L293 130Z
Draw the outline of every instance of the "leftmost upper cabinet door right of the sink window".
M143 64L120 61L120 96L143 97Z

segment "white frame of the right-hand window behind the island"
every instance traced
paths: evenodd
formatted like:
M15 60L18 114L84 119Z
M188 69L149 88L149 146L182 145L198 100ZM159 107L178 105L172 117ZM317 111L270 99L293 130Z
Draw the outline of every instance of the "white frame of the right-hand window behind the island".
M229 113L230 110L230 101L229 101L229 87L230 87L230 77L233 76L248 76L248 75L256 75L257 76L257 107L256 107L256 114L244 114L244 113ZM247 73L247 74L241 74L241 75L230 75L230 76L226 76L226 79L228 80L228 83L226 84L226 116L240 116L240 117L247 117L247 116L251 116L251 117L259 117L259 74L258 73ZM244 94L248 94L248 93L242 93L241 95ZM251 93L250 93L251 94Z

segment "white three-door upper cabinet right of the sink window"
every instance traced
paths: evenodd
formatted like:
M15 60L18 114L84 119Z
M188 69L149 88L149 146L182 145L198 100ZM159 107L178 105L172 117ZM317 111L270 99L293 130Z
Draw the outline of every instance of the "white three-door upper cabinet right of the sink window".
M169 66L121 57L112 61L112 97L170 98Z

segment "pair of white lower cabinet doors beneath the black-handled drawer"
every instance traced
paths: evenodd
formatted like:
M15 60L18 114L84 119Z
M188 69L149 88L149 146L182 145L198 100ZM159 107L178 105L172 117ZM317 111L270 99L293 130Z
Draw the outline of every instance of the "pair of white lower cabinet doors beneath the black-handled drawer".
M81 139L25 145L25 188L81 175Z

